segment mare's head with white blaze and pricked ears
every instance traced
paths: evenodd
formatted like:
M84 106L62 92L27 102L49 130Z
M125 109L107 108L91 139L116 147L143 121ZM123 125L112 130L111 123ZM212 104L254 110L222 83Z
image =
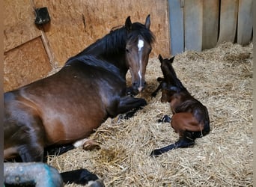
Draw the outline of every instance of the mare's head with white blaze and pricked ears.
M152 49L154 36L150 31L150 15L144 24L131 22L127 17L125 22L127 30L126 61L132 76L132 94L141 92L146 84L144 75L148 58Z

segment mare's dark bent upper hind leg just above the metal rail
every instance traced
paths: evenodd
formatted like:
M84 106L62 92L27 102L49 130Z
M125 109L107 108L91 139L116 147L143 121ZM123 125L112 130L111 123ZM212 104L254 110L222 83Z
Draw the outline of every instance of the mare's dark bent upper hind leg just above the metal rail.
M43 162L45 132L42 121L28 113L21 115L11 119L15 124L4 121L4 145L16 147L22 162Z

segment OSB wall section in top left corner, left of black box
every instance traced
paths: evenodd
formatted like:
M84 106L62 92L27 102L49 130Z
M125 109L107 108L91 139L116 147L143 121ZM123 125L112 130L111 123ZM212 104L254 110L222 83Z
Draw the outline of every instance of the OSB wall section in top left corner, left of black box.
M34 17L30 1L4 1L4 52L40 36Z

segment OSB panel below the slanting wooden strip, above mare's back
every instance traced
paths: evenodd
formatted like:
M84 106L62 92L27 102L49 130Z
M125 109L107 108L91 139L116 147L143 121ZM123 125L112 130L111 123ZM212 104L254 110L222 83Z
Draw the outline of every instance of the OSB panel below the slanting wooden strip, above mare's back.
M4 53L4 91L42 79L52 70L41 37Z

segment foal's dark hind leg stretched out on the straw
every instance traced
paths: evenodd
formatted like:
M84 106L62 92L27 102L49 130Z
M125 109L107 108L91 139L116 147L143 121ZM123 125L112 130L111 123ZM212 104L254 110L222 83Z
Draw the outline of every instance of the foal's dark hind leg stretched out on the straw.
M174 150L177 148L185 148L190 147L195 144L195 140L189 139L189 138L180 138L178 141L176 141L174 144L170 144L166 147L162 147L160 149L153 150L150 153L150 156L159 156L162 153L165 153L169 150Z

